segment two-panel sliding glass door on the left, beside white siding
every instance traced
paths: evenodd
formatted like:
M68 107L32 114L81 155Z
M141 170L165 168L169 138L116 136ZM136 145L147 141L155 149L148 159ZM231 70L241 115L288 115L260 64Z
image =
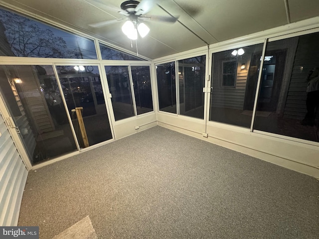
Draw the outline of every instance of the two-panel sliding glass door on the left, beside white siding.
M0 66L5 121L32 165L113 138L98 66L56 70L60 84L50 65Z

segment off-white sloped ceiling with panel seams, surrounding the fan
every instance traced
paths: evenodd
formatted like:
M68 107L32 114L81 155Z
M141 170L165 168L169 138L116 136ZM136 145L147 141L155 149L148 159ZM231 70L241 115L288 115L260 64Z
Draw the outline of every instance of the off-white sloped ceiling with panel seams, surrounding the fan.
M89 26L91 23L123 18L123 15L116 11L102 9L96 1L0 0L0 4L27 10L121 48L136 51L135 44L131 48L130 39L121 31L123 21L100 28ZM124 0L98 1L119 8ZM145 38L138 39L138 50L140 55L150 59L319 16L319 0L157 0L156 2L157 4L147 15L171 14L178 16L178 21L146 22L151 31Z

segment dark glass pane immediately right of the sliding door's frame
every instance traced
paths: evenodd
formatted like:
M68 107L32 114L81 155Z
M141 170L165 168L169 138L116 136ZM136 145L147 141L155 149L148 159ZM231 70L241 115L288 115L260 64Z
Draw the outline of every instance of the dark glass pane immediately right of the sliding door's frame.
M105 66L115 120L135 116L128 66Z

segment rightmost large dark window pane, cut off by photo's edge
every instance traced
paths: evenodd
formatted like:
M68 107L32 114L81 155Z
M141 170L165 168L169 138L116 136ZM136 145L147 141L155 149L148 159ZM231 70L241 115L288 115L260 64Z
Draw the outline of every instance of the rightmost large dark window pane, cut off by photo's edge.
M319 33L269 42L254 129L319 141Z

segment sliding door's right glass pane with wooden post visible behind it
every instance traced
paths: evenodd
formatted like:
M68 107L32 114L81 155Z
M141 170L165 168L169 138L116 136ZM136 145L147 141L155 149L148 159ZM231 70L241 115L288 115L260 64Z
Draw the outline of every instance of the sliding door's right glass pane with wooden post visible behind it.
M112 139L98 67L57 66L56 69L80 146Z

